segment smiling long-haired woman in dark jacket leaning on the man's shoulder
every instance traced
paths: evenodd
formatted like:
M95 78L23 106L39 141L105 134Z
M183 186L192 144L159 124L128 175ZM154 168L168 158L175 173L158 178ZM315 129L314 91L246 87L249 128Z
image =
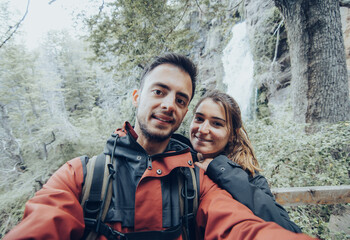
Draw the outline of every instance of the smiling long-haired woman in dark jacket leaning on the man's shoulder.
M236 200L246 205L265 221L301 232L287 211L276 201L243 127L241 112L229 95L211 91L194 109L190 141L202 159L196 165ZM200 155L200 154L199 154Z

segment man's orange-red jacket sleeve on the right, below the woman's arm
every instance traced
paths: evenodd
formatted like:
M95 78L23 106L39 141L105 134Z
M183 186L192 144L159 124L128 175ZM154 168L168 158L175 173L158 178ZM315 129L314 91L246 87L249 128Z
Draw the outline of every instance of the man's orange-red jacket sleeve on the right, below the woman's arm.
M293 233L274 222L265 222L203 173L200 184L201 199L196 216L200 239L314 239L302 233Z

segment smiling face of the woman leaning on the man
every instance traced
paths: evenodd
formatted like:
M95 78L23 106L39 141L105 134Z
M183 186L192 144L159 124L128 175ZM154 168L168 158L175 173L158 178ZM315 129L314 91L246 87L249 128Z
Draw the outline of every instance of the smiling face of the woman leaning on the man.
M190 127L193 148L203 157L216 157L229 140L225 110L221 103L205 99L198 106Z

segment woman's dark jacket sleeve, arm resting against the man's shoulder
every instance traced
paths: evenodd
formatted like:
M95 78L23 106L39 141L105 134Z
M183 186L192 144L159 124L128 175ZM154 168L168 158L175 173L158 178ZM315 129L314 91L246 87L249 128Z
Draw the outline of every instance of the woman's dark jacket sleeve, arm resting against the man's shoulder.
M287 211L275 201L264 176L257 173L253 177L224 155L211 161L207 175L256 216L275 222L290 231L301 232L289 219Z

